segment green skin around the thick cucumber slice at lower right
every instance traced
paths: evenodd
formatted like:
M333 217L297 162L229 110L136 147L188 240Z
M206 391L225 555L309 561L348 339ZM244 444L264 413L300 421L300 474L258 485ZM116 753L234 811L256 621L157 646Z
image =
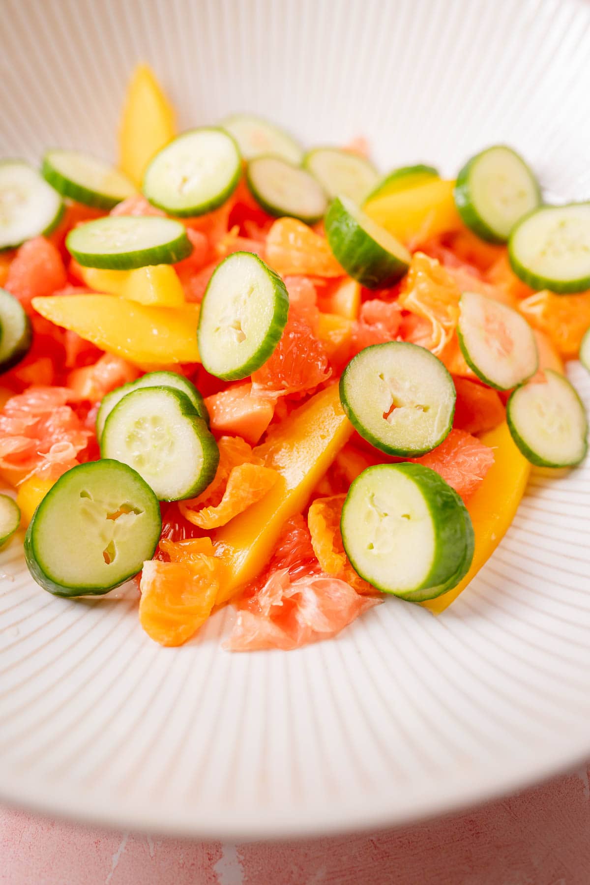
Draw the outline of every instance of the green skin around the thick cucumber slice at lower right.
M442 536L439 541L438 547L440 549L444 548L444 550L448 550L449 548L456 548L457 563L455 572L450 578L447 578L444 573L441 573L440 566L438 566L436 561L434 561L433 566L431 567L430 572L426 575L422 585L416 590L399 593L395 592L392 589L379 586L377 584L373 584L372 586L380 590L382 593L387 593L391 596L397 596L398 598L405 599L408 602L418 603L424 602L426 599L435 599L436 596L441 596L442 593L446 593L447 590L456 587L456 585L459 583L459 581L461 581L462 578L464 578L465 574L469 571L471 567L473 550L475 547L475 535L473 532L473 526L471 524L471 517L462 499L457 495L455 489L451 489L451 487L442 479L439 473L436 473L436 471L432 470L430 467L425 467L421 464L412 464L410 462L405 462L403 464L377 465L367 467L363 471L363 473L357 476L356 480L352 482L350 489L352 489L355 483L358 482L366 473L379 471L384 468L397 470L400 473L405 473L406 475L409 475L412 479L420 481L420 489L423 493L425 493L425 502L428 506L428 510L431 513L433 522L435 522L436 524L440 524L443 527ZM342 505L340 523L342 544L356 573L361 578L363 578L364 581L371 582L371 579L369 577L364 575L362 572L359 572L356 568L354 554L351 555L351 552L347 547L347 541L345 540L346 531L343 529L344 517L348 501L349 495L347 495L346 500ZM461 517L463 517L463 519L455 519L457 513Z

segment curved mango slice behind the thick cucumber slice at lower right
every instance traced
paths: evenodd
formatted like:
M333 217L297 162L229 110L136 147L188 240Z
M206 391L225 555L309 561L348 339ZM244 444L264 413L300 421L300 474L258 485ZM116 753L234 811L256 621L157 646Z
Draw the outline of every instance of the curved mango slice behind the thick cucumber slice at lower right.
M481 442L494 449L494 464L488 470L479 489L467 502L475 532L475 553L469 572L452 590L422 603L434 614L444 612L448 605L487 563L510 527L520 499L525 494L531 465L512 441L506 422L487 434Z

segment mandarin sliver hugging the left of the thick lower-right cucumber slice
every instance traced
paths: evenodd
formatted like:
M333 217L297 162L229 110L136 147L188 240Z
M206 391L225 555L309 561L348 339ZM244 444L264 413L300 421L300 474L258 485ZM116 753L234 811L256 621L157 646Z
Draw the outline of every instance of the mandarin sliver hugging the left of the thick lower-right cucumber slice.
M346 495L316 498L310 504L307 524L311 544L323 572L346 581L357 593L374 593L375 589L359 577L344 550L340 531L342 504Z

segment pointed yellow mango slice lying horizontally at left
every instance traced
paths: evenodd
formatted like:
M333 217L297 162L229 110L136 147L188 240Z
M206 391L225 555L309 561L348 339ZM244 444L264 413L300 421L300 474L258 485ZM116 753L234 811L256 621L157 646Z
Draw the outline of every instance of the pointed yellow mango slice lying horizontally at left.
M198 304L151 307L111 295L57 295L33 299L34 310L56 326L123 357L134 366L198 363Z

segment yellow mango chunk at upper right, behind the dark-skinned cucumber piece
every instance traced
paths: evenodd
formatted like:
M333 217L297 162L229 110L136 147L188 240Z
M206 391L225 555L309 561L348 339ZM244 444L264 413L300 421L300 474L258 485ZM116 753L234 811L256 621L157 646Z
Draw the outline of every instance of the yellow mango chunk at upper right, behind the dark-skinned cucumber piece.
M364 211L406 245L413 248L433 236L462 226L456 211L455 181L433 179L416 188L370 200Z

